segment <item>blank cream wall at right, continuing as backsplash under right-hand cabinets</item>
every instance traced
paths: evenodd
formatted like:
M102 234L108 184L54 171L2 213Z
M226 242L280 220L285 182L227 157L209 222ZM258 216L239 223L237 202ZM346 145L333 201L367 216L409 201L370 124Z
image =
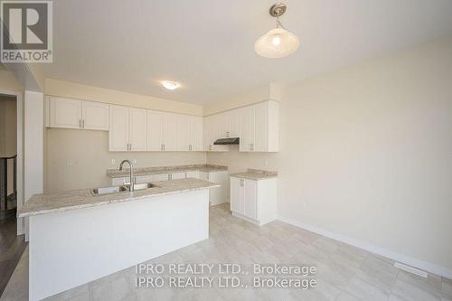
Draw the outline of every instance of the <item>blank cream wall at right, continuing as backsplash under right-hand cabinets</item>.
M284 89L278 214L452 277L452 37Z

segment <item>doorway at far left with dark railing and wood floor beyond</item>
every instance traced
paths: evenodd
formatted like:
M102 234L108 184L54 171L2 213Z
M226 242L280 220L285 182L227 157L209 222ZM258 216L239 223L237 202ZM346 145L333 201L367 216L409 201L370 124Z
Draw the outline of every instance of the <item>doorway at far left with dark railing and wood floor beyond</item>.
M17 235L22 221L22 99L0 92L0 296L24 253L24 235ZM19 192L20 191L20 192Z

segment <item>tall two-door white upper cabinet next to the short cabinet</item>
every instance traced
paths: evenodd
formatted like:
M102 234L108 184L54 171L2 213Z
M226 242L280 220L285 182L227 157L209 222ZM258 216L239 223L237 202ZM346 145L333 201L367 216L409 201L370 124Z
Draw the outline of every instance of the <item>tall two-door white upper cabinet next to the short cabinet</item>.
M110 106L109 151L146 151L146 128L146 109Z

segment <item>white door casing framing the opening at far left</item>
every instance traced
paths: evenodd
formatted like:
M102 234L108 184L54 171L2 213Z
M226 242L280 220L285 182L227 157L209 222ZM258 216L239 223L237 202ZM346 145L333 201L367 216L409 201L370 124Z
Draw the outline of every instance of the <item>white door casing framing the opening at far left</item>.
M17 111L17 210L24 205L24 99L23 92L0 89L0 94L15 96ZM24 234L24 218L17 219L17 235Z

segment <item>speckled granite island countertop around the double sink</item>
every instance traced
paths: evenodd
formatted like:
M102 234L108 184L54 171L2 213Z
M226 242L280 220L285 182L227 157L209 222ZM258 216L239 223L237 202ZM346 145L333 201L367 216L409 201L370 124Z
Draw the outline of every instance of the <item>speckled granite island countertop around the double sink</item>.
M17 217L26 217L51 212L63 212L74 209L88 208L114 202L128 202L167 194L193 192L202 189L219 187L220 184L198 179L178 179L155 182L155 187L139 190L133 193L111 193L92 195L91 189L80 189L53 194L35 194L17 212Z

